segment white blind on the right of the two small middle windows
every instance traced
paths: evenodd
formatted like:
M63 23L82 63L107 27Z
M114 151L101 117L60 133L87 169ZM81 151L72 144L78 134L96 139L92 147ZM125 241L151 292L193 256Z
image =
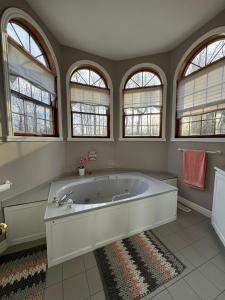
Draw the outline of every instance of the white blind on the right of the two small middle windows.
M143 90L125 90L124 108L162 106L162 87L144 88Z

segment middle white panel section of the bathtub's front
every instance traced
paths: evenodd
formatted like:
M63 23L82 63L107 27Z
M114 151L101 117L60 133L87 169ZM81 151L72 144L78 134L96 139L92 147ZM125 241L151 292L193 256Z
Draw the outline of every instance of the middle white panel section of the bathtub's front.
M128 205L100 209L95 216L95 246L100 247L127 235Z

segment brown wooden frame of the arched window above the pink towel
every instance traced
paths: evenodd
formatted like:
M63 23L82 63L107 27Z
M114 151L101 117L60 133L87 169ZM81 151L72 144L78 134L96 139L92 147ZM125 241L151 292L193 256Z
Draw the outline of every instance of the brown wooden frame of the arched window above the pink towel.
M222 34L214 34L211 35L210 37L204 39L201 43L199 43L190 53L189 55L187 55L187 57L184 59L183 63L181 64L179 73L178 73L178 78L177 78L177 84L176 84L176 103L175 103L175 109L176 109L176 114L175 114L175 139L184 139L184 140L191 140L191 139L218 139L218 138L225 138L225 134L214 134L214 135L180 135L180 121L178 119L177 116L177 103L178 103L178 86L179 83L186 78L190 78L191 76L201 72L203 69L207 69L209 67L211 67L212 65L216 65L218 63L220 63L221 61L225 61L225 56L210 63L207 64L206 66L202 67L199 70L193 71L191 74L188 74L185 76L185 72L187 70L187 68L189 67L190 63L192 62L192 60L194 59L195 56L197 56L205 47L207 47L210 43L219 41L221 39L225 39L225 35ZM212 104L213 105L213 104ZM222 109L219 109L218 111L221 111ZM210 111L209 111L210 113ZM204 115L205 113L199 114L199 115ZM191 124L191 122L189 122L189 124ZM201 125L202 128L202 125ZM215 129L215 128L214 128Z

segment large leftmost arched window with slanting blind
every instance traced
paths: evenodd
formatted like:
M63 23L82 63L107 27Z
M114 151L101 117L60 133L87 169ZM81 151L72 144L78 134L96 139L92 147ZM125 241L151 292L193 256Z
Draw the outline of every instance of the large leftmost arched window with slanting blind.
M5 33L9 136L58 137L56 68L44 38L20 17Z

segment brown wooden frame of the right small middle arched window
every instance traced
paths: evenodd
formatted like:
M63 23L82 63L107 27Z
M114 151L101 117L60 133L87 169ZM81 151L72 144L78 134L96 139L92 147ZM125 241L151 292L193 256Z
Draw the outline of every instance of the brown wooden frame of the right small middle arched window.
M125 88L126 85L127 85L127 82L137 73L140 73L140 72L151 72L153 74L155 74L158 79L160 80L161 82L161 85L153 85L153 86L145 86L145 87L136 87L136 88ZM159 113L160 115L160 124L159 124L159 135L157 136L152 136L152 135L132 135L132 136L127 136L125 135L125 117L127 116L125 113L124 113L124 92L125 91L140 91L140 90L145 90L145 89L154 89L156 87L161 87L162 88L162 107L161 107L161 111ZM127 77L125 83L124 83L124 87L123 87L123 90L122 90L122 93L123 93L123 98L122 98L122 138L123 139L161 139L162 138L162 126L163 126L163 97L164 97L164 85L163 85L163 82L162 82L162 79L161 79L161 76L159 75L159 73L157 71L155 71L154 69L152 68L140 68L140 69L137 69L135 71L133 71L132 73L130 73L130 75ZM132 114L130 116L135 116L135 115L141 115L141 116L147 116L147 115L154 115L154 114ZM157 114L158 115L158 114Z

